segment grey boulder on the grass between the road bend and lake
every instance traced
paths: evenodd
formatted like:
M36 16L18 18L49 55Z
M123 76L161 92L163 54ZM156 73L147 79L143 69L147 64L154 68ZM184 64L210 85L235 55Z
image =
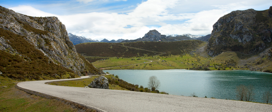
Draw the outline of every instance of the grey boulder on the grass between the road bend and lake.
M108 89L108 79L104 76L95 78L88 87L99 88L99 89Z

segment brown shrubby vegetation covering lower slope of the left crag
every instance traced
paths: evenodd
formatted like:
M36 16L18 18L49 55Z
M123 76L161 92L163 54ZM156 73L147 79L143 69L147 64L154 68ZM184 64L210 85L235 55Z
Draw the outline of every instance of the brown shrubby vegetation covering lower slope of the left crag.
M72 78L77 75L68 68L49 62L49 59L24 36L0 28L0 36L9 40L11 48L20 54L0 50L0 71L4 77L20 80Z

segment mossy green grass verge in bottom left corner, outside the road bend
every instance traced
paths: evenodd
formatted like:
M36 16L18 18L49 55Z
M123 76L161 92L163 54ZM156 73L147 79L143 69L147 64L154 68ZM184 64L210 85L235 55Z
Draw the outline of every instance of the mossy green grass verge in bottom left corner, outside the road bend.
M68 102L48 99L17 89L18 81L0 76L0 111L1 112L76 112L77 108ZM5 87L2 87L5 86ZM95 112L87 109L86 111Z

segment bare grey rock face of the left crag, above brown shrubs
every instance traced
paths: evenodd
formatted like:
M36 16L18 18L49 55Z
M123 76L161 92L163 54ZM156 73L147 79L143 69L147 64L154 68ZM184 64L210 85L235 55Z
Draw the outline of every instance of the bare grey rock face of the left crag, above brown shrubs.
M10 31L12 35L23 36L31 46L33 45L38 50L35 52L41 52L48 58L47 63L69 68L79 76L104 74L103 71L87 63L86 59L76 52L75 46L68 37L65 25L57 17L31 17L0 6L0 28L4 29L2 32ZM19 44L11 43L4 36L6 34L4 33L0 37L2 52L12 55L18 54L23 60L31 61L29 60L31 57L23 55L22 52L25 51L14 49L20 46L20 42ZM29 45L24 47L26 47L25 50L28 50ZM31 53L33 50L26 52Z

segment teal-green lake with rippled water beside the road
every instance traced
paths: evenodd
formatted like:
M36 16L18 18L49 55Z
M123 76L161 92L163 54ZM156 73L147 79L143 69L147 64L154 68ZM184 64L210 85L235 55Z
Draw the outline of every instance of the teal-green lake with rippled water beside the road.
M254 86L254 100L263 102L264 91L272 92L272 74L258 71L193 71L174 70L104 70L118 75L131 84L147 87L150 76L157 76L161 86L157 89L173 95L215 97L218 99L238 100L235 88L238 85Z

